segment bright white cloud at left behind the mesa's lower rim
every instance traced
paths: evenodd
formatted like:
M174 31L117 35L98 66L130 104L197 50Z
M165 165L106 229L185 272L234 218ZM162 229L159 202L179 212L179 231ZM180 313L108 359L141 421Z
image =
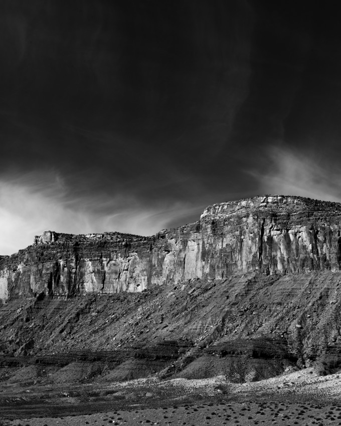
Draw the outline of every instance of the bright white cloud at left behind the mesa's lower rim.
M12 254L32 244L34 236L51 230L70 234L118 231L153 235L204 206L179 201L143 203L124 192L75 196L54 171L31 172L0 179L0 254Z

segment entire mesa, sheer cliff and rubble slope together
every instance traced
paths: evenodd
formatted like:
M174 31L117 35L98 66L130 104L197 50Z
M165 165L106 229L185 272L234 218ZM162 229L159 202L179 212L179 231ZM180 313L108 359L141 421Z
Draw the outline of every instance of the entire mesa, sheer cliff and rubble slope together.
M215 204L154 237L44 233L0 260L0 379L336 371L340 215L276 195Z

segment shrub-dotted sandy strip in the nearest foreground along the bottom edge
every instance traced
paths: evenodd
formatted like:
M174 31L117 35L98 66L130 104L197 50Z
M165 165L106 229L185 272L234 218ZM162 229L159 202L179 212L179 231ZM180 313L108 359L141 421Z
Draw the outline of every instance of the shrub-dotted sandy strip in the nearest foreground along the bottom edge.
M277 403L274 401L234 402L221 404L196 404L156 409L109 411L75 417L31 418L10 422L11 425L56 426L56 425L107 425L107 424L280 424L291 426L341 424L341 406L313 405L302 403Z

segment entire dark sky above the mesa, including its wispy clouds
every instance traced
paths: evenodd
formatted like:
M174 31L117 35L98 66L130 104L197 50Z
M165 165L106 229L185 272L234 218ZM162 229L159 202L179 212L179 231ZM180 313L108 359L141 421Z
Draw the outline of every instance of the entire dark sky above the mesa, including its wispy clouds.
M341 200L332 4L2 0L0 253L263 193Z

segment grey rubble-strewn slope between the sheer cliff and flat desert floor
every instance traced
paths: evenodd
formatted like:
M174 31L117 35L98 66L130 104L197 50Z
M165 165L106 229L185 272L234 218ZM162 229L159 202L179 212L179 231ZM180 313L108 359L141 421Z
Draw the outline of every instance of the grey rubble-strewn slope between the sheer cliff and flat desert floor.
M341 273L314 272L17 298L0 308L0 376L105 382L225 374L243 382L313 365L333 372L341 368L340 296Z

